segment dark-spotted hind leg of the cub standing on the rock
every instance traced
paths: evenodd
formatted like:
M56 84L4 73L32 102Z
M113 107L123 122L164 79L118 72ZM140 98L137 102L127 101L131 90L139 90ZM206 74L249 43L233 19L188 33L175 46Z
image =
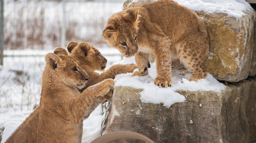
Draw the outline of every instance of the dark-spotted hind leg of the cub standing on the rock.
M193 41L195 39L190 39ZM191 72L191 77L188 81L198 81L204 79L207 76L207 72L204 70L204 63L208 56L208 45L202 42L184 42L177 46L177 54L180 61L183 62L188 71Z

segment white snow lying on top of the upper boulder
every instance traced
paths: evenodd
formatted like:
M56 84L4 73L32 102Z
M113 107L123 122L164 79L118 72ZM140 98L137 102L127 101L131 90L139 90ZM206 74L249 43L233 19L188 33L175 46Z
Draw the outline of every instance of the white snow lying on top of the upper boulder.
M133 0L132 2L137 2ZM173 0L180 5L190 8L193 11L205 11L208 13L222 12L228 16L241 18L246 10L253 8L245 0ZM130 3L131 4L131 3Z

